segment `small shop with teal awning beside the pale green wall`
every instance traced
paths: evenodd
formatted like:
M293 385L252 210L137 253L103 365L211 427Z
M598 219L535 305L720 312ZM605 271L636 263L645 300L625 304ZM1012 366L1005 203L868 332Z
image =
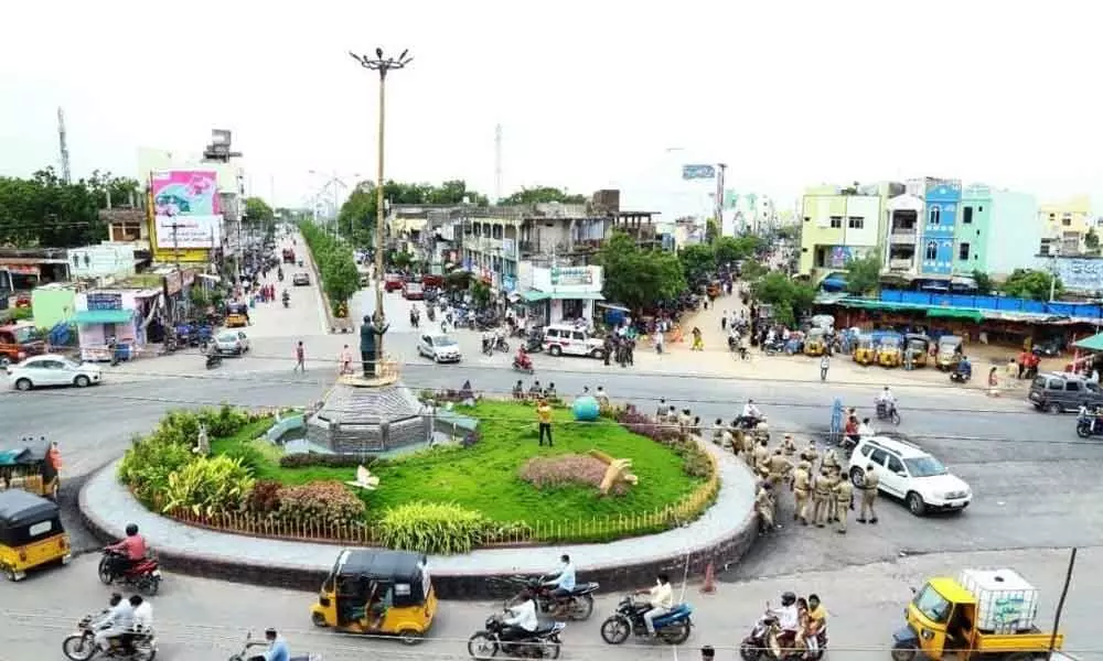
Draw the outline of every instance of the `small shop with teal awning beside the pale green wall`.
M137 356L147 343L146 319L157 305L158 290L92 291L76 295L77 339L83 360L109 360L115 339L124 358Z

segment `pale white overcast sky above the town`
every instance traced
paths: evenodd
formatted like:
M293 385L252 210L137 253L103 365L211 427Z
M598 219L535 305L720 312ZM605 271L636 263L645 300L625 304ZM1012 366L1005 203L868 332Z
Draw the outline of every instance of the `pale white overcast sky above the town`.
M387 176L622 187L707 205L683 163L792 206L823 182L961 177L1103 202L1094 2L14 2L0 39L0 174L138 175L139 145L234 131L253 192L296 205L375 176L376 78L349 50L410 48L389 78ZM672 151L673 150L673 151ZM674 207L678 207L675 209Z

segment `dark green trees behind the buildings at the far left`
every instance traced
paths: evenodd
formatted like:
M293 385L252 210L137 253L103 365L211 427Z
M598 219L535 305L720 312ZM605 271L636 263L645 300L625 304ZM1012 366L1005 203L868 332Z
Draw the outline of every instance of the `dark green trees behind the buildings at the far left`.
M138 180L93 171L65 183L53 167L0 177L0 245L76 248L107 239L100 209L141 205Z

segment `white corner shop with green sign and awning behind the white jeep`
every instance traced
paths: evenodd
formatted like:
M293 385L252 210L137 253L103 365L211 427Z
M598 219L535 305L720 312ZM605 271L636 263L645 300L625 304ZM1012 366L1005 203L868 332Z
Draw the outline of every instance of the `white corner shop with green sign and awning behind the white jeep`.
M528 317L542 325L585 319L593 325L593 304L604 301L601 267L534 267L533 285L521 294Z

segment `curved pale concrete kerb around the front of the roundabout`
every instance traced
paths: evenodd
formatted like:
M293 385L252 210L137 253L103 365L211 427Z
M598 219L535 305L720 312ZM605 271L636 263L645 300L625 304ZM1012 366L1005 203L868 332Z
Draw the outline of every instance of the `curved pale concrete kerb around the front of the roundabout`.
M497 576L543 574L561 553L570 554L588 581L602 589L649 585L658 572L694 576L709 563L722 567L737 562L758 537L754 478L731 454L706 445L720 469L716 503L696 521L665 532L606 544L567 544L547 549L481 549L464 555L432 555L429 568L443 598L501 596ZM127 523L137 523L165 568L200 576L317 589L333 563L338 548L318 542L259 539L193 528L147 510L119 484L118 462L93 475L81 489L81 513L89 529L105 540L122 537ZM688 557L687 557L688 556Z

